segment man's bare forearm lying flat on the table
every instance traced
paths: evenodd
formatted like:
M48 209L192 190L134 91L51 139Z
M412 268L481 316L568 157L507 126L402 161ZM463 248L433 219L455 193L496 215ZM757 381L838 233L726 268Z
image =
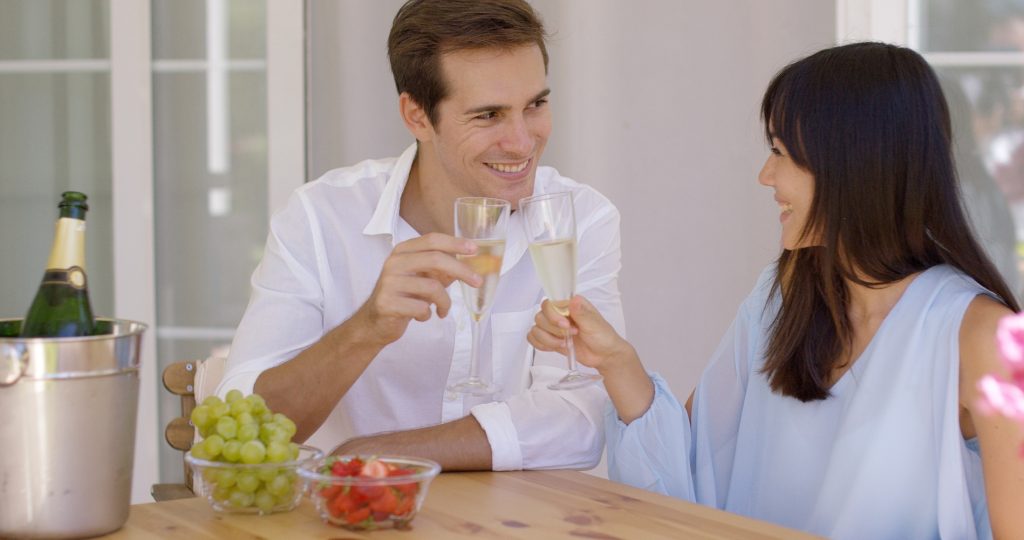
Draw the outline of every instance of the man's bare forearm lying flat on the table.
M424 457L443 470L490 470L487 433L472 415L452 422L352 439L335 454L398 454Z

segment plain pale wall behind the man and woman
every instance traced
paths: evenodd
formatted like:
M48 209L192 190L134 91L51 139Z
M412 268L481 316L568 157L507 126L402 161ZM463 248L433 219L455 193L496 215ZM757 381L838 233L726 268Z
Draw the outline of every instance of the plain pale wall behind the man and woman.
M396 155L385 43L399 0L314 0L310 174ZM757 183L761 93L790 60L828 46L822 0L534 0L554 34L554 134L543 160L623 214L631 340L689 393L759 272L778 210Z

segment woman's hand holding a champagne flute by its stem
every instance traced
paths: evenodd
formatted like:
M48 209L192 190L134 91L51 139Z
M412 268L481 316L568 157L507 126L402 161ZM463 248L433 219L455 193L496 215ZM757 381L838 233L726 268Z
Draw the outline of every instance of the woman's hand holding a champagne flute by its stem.
M535 326L526 339L538 350L567 355L565 334L572 336L577 361L599 372L613 368L625 357L635 355L633 347L601 317L600 311L583 296L568 302L568 317L558 313L551 300L544 300L534 318ZM573 325L574 323L574 325Z

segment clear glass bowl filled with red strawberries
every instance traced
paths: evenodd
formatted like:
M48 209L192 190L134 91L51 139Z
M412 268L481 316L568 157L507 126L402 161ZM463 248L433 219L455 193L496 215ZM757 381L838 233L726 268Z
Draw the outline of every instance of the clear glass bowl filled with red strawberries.
M299 469L324 522L345 529L407 529L441 467L404 456L329 456Z

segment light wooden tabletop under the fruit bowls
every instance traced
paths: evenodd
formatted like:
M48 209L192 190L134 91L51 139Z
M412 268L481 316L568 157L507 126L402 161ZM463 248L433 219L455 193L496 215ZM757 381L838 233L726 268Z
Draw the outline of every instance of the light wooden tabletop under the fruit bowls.
M430 485L410 531L347 531L324 524L304 499L268 516L217 513L205 499L136 504L104 537L136 538L815 538L578 471L444 473Z

